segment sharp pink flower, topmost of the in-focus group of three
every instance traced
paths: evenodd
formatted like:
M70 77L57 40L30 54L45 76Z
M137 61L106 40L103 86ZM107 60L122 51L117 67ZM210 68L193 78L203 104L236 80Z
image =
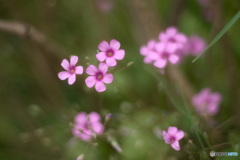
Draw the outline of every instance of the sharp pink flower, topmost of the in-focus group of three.
M123 49L119 49L120 43L115 39L112 39L110 44L106 41L102 41L98 45L98 48L101 52L96 55L97 59L100 62L106 60L108 66L116 66L116 60L122 60L125 55L125 51Z

